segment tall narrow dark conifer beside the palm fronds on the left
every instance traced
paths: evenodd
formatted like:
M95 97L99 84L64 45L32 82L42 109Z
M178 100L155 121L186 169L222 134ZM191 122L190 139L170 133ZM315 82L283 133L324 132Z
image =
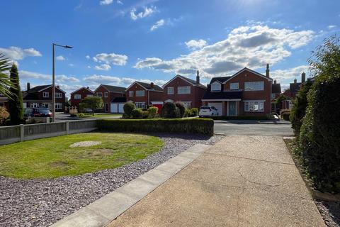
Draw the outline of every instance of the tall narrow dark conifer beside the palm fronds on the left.
M23 93L20 89L18 68L15 64L10 70L10 81L12 86L10 88L12 99L8 99L9 114L11 117L11 124L18 125L23 122Z

